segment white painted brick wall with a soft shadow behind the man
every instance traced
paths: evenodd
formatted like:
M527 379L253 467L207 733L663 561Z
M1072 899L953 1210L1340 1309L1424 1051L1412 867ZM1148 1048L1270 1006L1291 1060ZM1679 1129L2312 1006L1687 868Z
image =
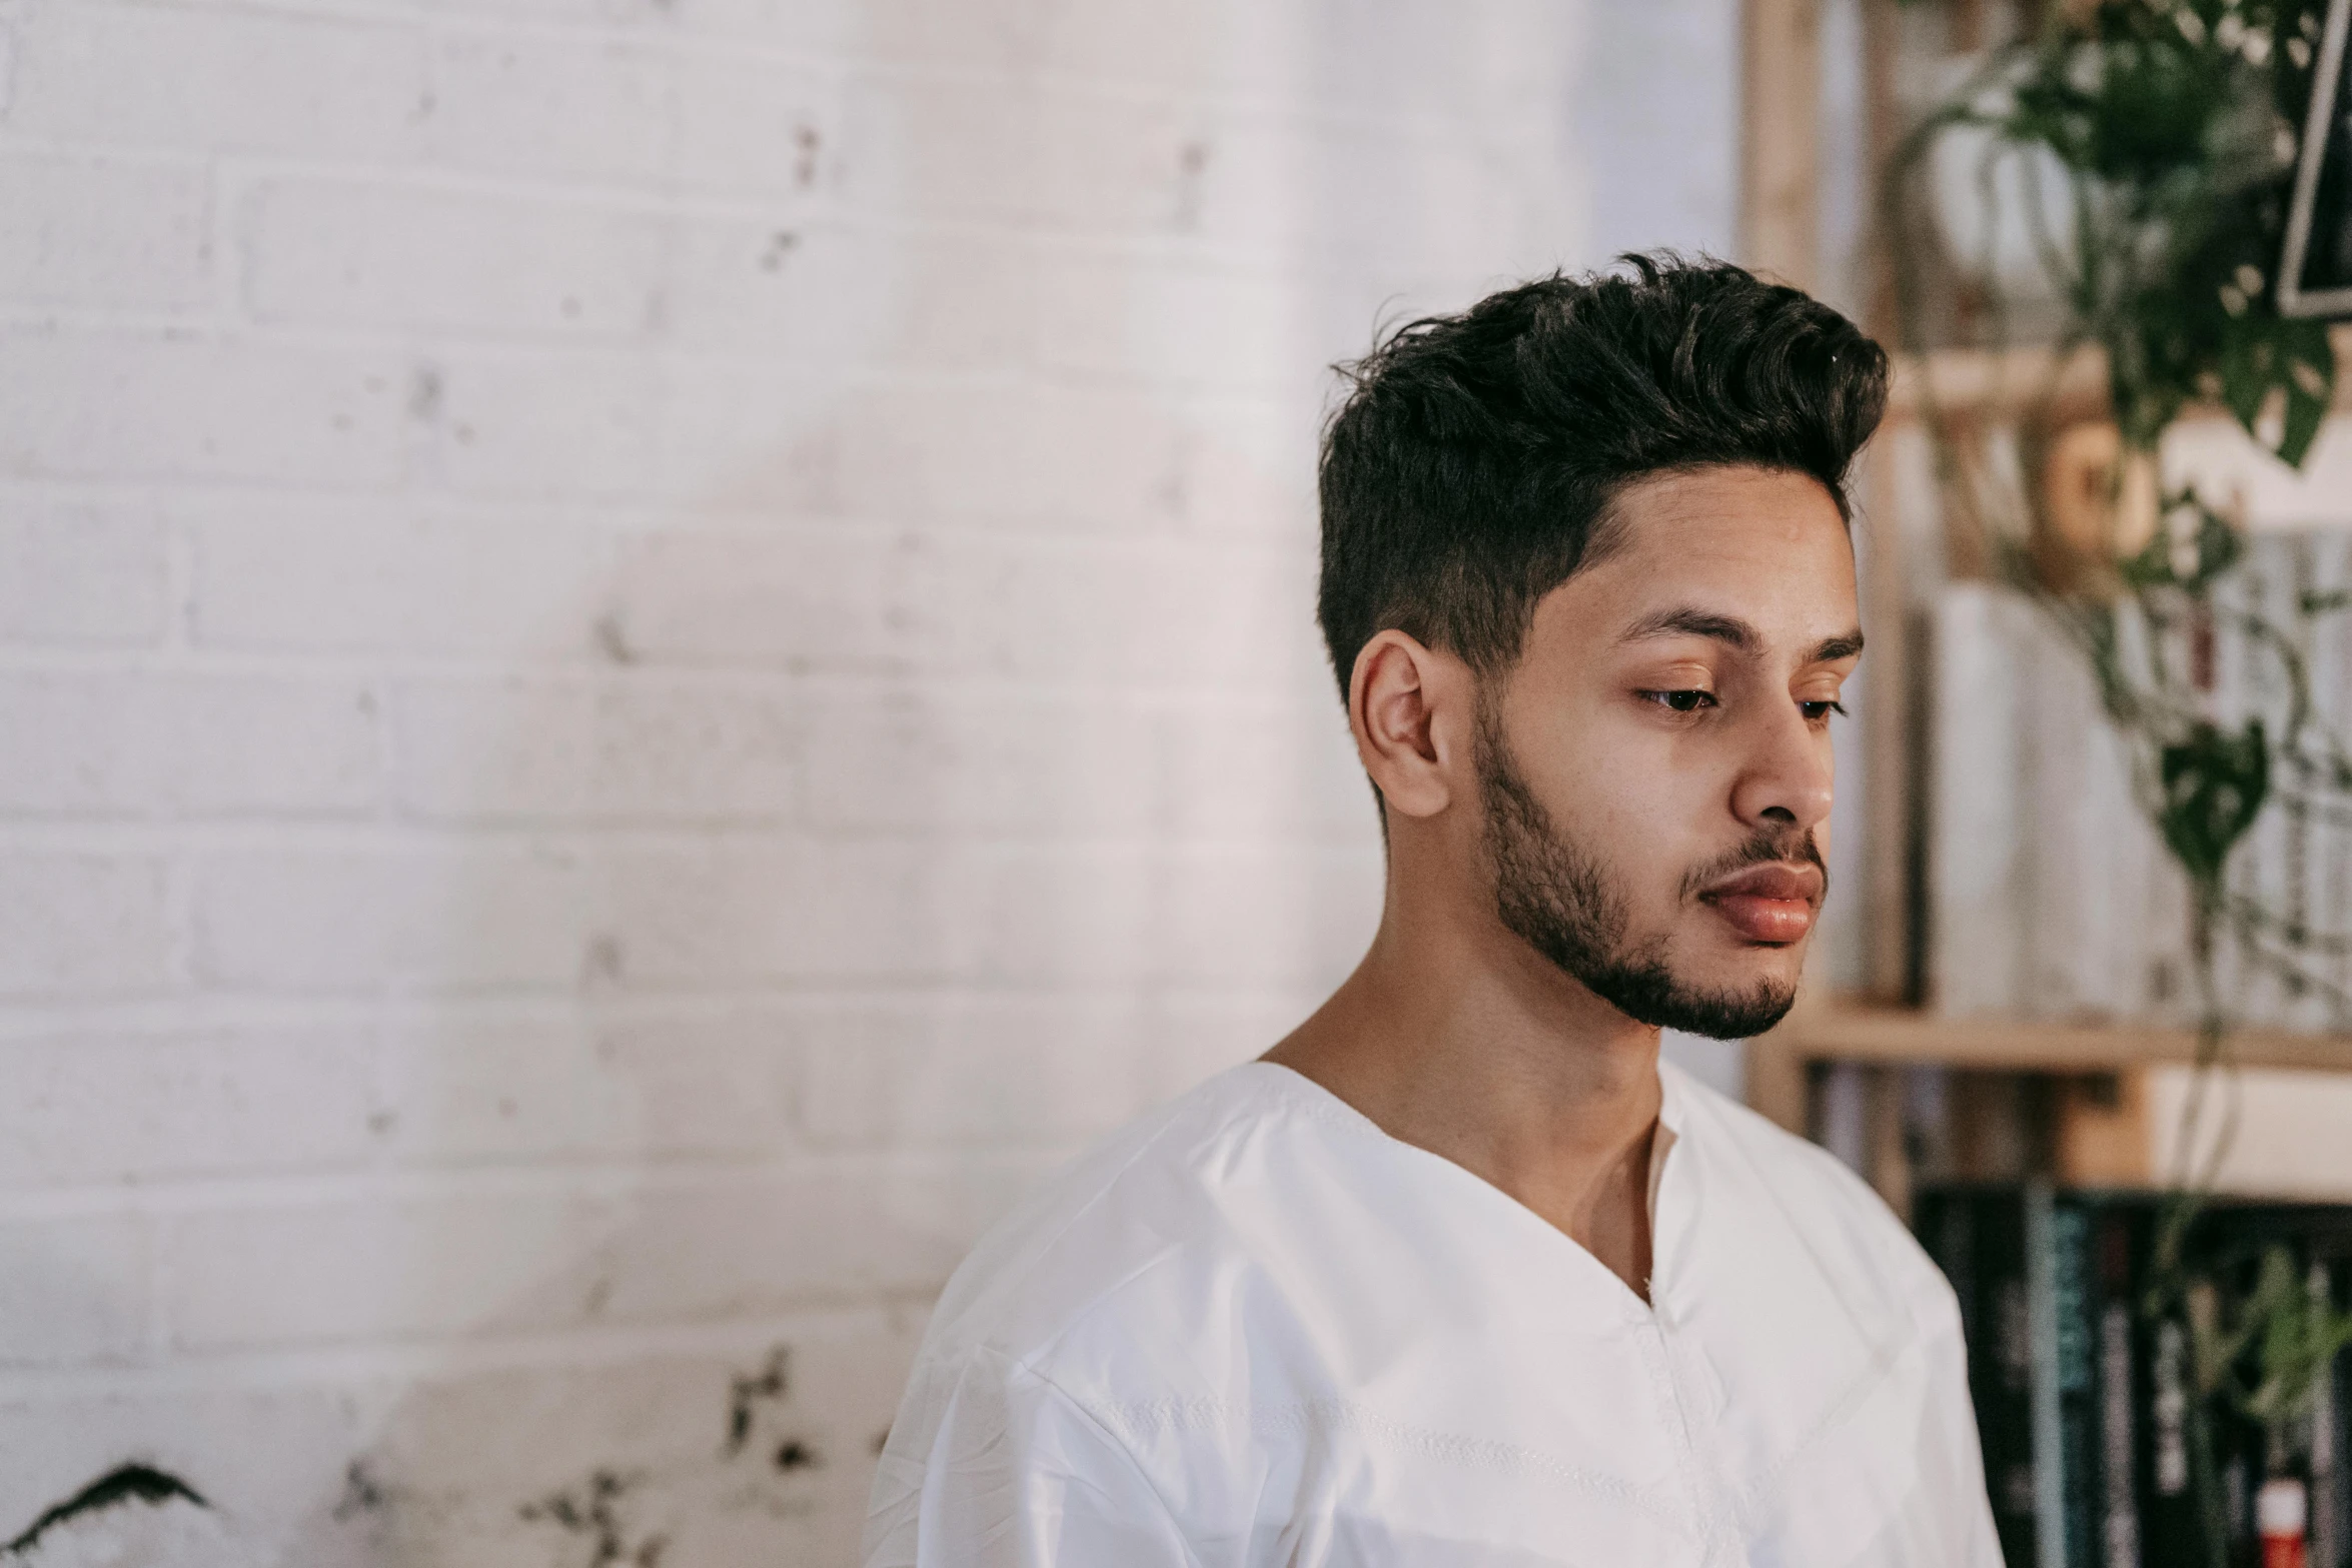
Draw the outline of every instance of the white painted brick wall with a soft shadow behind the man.
M1595 259L1585 38L0 0L0 1542L854 1561L971 1237L1369 931L1322 367Z

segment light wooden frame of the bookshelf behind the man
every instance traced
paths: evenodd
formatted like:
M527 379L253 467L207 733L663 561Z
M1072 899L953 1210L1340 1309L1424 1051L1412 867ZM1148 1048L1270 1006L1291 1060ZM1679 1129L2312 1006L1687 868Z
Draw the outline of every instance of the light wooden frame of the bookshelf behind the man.
M1823 160L1820 134L1830 115L1823 103L1820 0L1745 0L1743 35L1743 207L1740 249L1750 266L1799 287L1823 282ZM1973 14L1962 5L1959 12ZM1959 14L1957 12L1957 14ZM1860 108L1867 167L1884 167L1903 127L1900 85L1919 61L1903 59L1905 24L1896 0L1860 5ZM1966 24L1966 16L1962 16ZM1870 176L1875 186L1875 174ZM1860 287L1865 324L1893 341L1893 284L1884 254L1867 259ZM2336 409L2352 409L2352 322L2331 329L2343 374ZM2096 350L2067 355L2051 348L1945 348L1898 355L1886 425L1877 447L1886 449L1917 428L1926 411L1999 423L2049 397L2060 418L2098 418L2105 411L2105 364ZM2190 418L2227 418L2218 407ZM2107 1114L2122 1081L2124 1105L2136 1103L2138 1074L2152 1065L2194 1060L2190 1032L2157 1025L2037 1023L2006 1018L1943 1018L1896 999L1917 994L1917 910L1924 856L1917 851L1924 799L1924 745L1919 708L1929 682L1922 635L1919 585L1966 576L1969 541L1940 538L1938 552L1903 527L1903 498L1891 463L1870 463L1858 475L1856 529L1863 557L1863 621L1870 625L1870 677L1860 712L1860 752L1867 776L1860 875L1844 896L1867 905L1863 922L1867 952L1860 954L1863 994L1830 994L1799 1009L1771 1034L1748 1046L1748 1100L1773 1121L1809 1131L1816 1067L1849 1063L1863 1070L1870 1100L1867 1173L1905 1208L1910 1171L1903 1150L1900 1095L1905 1067L1950 1067L1959 1074L2025 1074L2049 1084L2046 1103L2060 1114L2074 1105L2082 1145L2093 1159L2129 1166L2145 1121ZM2232 1058L2246 1067L2352 1070L2352 1034L2296 1034L2239 1030ZM2089 1086L2105 1086L2089 1093Z

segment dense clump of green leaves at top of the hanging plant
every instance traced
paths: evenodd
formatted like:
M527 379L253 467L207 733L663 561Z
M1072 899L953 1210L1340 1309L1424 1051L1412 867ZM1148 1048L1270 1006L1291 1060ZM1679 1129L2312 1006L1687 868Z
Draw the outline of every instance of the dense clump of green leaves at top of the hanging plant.
M1891 169L1912 179L1933 136L1973 127L2027 169L2046 158L2063 172L2072 233L2039 249L2074 327L2107 353L2114 418L2140 451L2185 407L2220 402L2300 468L2326 418L2326 324L2281 317L2272 275L2324 5L2049 7Z

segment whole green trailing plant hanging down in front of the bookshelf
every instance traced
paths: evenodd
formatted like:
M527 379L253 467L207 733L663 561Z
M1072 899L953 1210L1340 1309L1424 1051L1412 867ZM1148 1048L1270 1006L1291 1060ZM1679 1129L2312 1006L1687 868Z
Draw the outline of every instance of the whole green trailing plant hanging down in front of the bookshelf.
M2079 649L2131 752L2138 804L2187 884L2199 1048L2145 1309L2190 1326L2201 1394L2277 1429L2310 1408L2317 1368L2352 1342L2352 1319L2314 1302L2286 1253L2265 1258L2256 1286L2220 1312L2187 1234L2234 1135L2234 1114L2201 1126L2209 1084L2230 1074L2223 966L2274 973L2352 1023L2352 994L2314 961L2352 950L2352 936L2310 931L2232 882L2232 858L2281 797L2352 820L2352 759L2314 717L2296 651L2317 618L2352 607L2352 592L2303 592L2284 623L2246 609L2227 592L2244 548L2225 503L2166 489L2159 444L2211 407L2291 468L2321 435L2338 374L2328 331L2279 313L2274 273L2326 0L2039 9L1919 120L1886 172L1898 322L1926 367L1922 407L1947 517L1973 529L1994 574ZM1936 160L1947 169L1955 148L1976 153L1978 209L1947 228L1976 237L1973 256L1952 254L1922 202ZM2018 249L2030 252L2034 301L2004 294L2004 277L2018 277L2004 259ZM1931 350L2006 348L2025 306L2049 327L2049 353L2030 360L2004 458L1985 421L1938 400ZM2027 477L2082 425L2082 400L2063 393L2084 360L2103 369L2114 433L2091 527ZM2270 661L2281 701L2267 715L2216 712L2183 670L2180 649L2199 637L2211 646L2216 630ZM2206 1554L2220 1566L2204 1408L2192 1415L2192 1469Z

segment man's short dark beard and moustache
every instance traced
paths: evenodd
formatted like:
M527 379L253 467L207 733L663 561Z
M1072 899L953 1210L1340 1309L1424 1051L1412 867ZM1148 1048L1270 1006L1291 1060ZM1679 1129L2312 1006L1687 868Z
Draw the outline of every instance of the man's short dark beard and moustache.
M1750 1039L1780 1023L1795 985L1757 980L1745 992L1689 985L1665 961L1665 938L1632 943L1625 893L1602 863L1569 842L1519 778L1498 715L1479 705L1477 778L1486 806L1486 860L1503 926L1635 1023L1712 1039ZM1820 865L1811 832L1762 832L1729 856L1696 867L1679 896L1769 860Z

